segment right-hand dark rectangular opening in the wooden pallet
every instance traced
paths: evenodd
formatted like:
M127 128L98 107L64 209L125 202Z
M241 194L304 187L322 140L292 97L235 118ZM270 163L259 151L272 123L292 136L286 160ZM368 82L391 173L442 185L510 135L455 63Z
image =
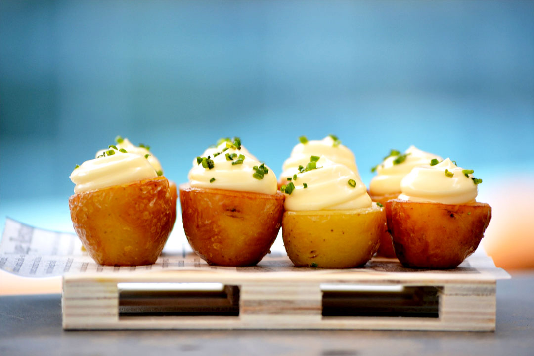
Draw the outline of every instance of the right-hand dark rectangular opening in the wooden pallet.
M321 284L323 318L438 318L440 287Z

